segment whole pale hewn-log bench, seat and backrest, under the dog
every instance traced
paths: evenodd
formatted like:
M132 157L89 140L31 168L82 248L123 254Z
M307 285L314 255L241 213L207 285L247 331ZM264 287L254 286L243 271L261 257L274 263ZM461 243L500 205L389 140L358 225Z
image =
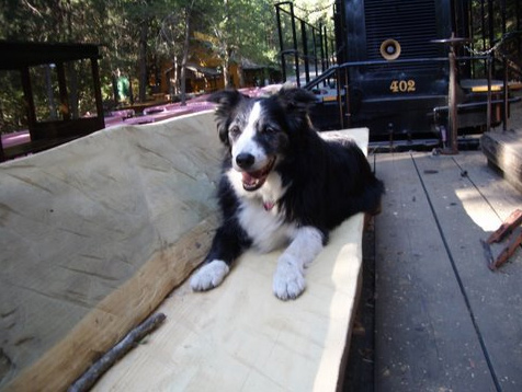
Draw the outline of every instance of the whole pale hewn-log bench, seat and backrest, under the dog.
M347 132L366 147L367 129ZM248 253L223 286L194 293L180 284L217 224L220 160L206 112L114 127L0 165L0 389L65 390L161 303L164 324L98 390L337 388L363 216L332 232L296 301L272 293L277 252Z

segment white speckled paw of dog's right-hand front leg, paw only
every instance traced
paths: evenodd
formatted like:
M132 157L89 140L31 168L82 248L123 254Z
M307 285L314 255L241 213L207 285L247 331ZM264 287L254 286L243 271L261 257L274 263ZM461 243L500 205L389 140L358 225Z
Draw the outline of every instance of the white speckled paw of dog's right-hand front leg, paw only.
M296 299L305 290L305 276L303 267L281 258L274 275L273 290L275 297L286 301Z

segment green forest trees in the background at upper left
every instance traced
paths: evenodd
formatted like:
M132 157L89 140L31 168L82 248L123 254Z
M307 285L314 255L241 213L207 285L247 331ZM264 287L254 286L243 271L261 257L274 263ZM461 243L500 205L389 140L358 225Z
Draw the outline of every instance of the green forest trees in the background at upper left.
M114 108L114 81L128 77L134 100L147 101L150 68L170 61L184 99L185 65L194 32L212 37L204 47L217 58L225 79L230 61L276 65L275 1L270 0L0 0L0 39L13 42L91 43L101 45L102 96ZM331 23L330 0L295 1L295 12L313 23ZM201 45L201 43L200 43ZM57 89L52 66L32 70L38 119L57 111L49 96ZM0 72L0 129L25 126L22 89L16 71ZM89 66L68 65L71 109L78 117L93 109ZM239 88L240 85L236 85Z

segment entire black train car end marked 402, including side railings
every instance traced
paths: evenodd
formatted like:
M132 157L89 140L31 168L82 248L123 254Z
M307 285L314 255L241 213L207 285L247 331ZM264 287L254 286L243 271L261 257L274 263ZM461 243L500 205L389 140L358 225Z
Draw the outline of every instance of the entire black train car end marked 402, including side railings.
M472 5L467 0L338 0L338 66L306 85L320 95L321 85L334 78L330 87L338 87L338 99L320 99L315 122L322 129L367 126L373 141L434 143L447 140L455 124L458 135L484 131L488 117L490 125L500 124L502 89L489 79L488 92L487 56L470 48Z

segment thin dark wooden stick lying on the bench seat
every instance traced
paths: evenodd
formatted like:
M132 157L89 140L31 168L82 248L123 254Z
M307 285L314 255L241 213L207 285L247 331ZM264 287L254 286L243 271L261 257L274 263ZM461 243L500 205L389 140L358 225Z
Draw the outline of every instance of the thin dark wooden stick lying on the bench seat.
M97 360L72 385L68 392L86 392L107 371L118 359L123 358L130 349L133 349L139 341L156 330L167 316L163 313L152 314L141 324L132 330L122 341L113 348L106 351L99 360Z

